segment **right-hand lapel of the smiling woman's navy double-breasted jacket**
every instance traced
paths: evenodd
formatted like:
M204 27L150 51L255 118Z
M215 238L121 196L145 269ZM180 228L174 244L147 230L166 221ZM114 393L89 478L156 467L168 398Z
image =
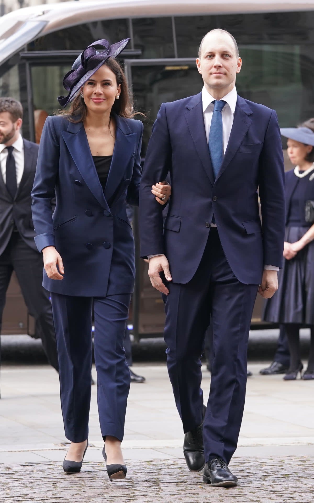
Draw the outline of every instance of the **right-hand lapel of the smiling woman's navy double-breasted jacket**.
M116 141L111 166L105 187L105 198L109 201L121 183L132 153L136 149L136 133L132 133L127 122L118 115L116 121Z

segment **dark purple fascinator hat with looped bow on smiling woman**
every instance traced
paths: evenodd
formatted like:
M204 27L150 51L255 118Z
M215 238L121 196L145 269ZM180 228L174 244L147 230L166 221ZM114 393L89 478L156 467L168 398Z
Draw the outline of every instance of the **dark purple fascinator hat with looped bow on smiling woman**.
M66 107L75 98L77 91L99 70L106 59L117 57L125 49L129 41L130 39L126 38L110 45L108 40L96 40L96 42L84 49L82 54L75 59L72 69L63 78L63 87L69 91L69 94L58 97L61 107ZM105 49L99 52L95 49L97 45Z

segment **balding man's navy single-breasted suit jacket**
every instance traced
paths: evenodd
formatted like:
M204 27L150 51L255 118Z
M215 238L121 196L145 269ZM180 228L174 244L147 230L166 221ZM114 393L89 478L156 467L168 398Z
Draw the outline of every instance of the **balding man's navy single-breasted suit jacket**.
M162 211L149 194L153 180L165 180L168 172L172 195L163 235ZM201 93L163 104L147 148L139 206L141 256L165 254L175 283L194 276L214 214L234 275L242 283L259 284L264 264L282 266L284 164L276 112L238 96L214 180Z

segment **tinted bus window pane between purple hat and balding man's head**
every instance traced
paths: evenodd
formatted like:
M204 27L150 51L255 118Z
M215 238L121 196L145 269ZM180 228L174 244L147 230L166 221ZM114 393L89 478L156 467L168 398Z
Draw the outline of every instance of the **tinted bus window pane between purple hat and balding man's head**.
M172 58L174 44L171 18L133 19L134 48L142 58Z

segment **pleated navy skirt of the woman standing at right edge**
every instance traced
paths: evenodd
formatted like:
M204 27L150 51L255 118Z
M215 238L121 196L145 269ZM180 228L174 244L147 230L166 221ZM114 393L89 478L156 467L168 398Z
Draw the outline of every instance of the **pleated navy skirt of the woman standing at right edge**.
M309 227L286 227L285 241L298 241ZM265 305L264 321L314 325L314 241L283 261L278 290Z

